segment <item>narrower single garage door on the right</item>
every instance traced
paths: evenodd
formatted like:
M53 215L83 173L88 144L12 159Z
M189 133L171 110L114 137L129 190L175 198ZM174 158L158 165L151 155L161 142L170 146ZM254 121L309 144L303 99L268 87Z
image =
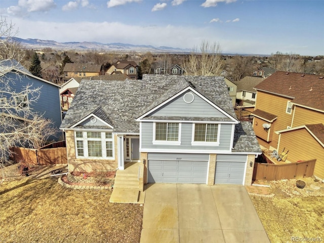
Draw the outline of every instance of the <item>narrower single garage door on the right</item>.
M247 155L218 154L216 157L215 184L243 185Z

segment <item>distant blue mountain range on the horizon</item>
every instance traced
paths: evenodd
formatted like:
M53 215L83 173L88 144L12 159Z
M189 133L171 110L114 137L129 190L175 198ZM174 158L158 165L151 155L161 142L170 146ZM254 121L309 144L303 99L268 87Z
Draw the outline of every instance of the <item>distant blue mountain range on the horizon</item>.
M52 48L55 50L105 50L105 51L141 51L141 52L173 52L188 53L191 49L181 49L173 47L153 47L145 45L132 45L124 43L108 43L99 42L56 42L43 39L22 39L13 37L14 41L19 42L23 47L28 49L44 49Z

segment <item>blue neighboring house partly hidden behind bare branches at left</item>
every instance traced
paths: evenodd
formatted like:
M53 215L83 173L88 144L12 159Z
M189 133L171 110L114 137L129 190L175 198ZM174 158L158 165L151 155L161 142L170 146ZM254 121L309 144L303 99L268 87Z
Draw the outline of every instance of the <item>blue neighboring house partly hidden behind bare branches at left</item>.
M12 80L9 82L12 90L16 93L23 92L26 86L31 86L31 89L39 88L39 97L36 102L26 102L31 100L31 95L19 95L15 97L16 104L29 105L34 113L42 115L46 119L50 119L55 128L59 128L62 122L61 105L60 105L60 86L51 83L43 78L32 75L26 68L19 64L15 60L1 61L0 75L2 80ZM4 83L0 82L0 86ZM4 95L4 93L2 93ZM0 101L3 102L12 98L10 94L0 97ZM17 113L19 115L19 113ZM26 117L20 117L21 120L25 120ZM28 117L27 117L28 118Z

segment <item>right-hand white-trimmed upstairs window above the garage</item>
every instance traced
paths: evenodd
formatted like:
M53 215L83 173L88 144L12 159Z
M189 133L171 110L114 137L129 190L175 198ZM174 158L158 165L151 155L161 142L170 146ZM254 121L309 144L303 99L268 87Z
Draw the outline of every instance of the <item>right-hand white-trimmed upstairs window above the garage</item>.
M219 145L220 125L196 123L192 129L192 145Z

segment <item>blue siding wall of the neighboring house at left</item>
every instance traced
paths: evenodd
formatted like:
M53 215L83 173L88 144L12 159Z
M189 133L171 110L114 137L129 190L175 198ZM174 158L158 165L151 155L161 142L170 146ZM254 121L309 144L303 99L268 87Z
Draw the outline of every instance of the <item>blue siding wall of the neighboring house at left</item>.
M14 87L12 83L11 87L17 93L24 90L24 87L28 84L32 86L31 89L41 87L39 98L36 102L31 103L29 107L44 118L51 119L56 128L60 127L62 113L59 87L23 74L6 73L5 76L14 80ZM30 98L28 97L28 99Z

